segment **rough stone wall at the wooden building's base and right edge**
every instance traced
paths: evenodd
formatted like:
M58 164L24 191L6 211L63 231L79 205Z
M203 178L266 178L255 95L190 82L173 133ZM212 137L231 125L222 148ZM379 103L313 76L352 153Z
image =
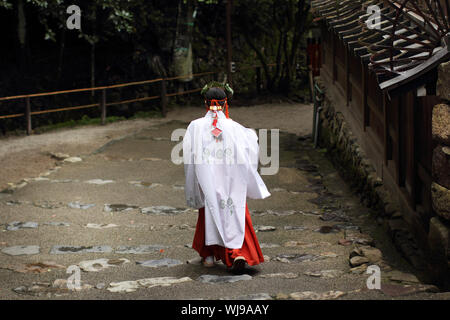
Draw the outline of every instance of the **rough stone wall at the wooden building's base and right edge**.
M447 71L444 69L447 68ZM438 92L448 98L449 64L440 67ZM361 201L378 212L377 221L386 227L397 249L416 268L430 275L430 281L450 288L450 106L440 104L433 110L433 185L432 201L436 213L430 220L428 243L417 243L413 229L403 218L400 204L377 176L370 159L360 147L341 112L324 91L319 117L319 144L326 147L334 164L360 195ZM421 248L424 248L422 250Z

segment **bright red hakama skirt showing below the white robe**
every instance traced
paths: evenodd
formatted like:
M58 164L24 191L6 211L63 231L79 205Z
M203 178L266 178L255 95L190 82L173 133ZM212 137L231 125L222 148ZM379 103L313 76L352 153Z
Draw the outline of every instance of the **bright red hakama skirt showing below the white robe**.
M198 210L197 227L195 229L192 248L205 259L214 256L216 260L222 260L227 266L231 267L236 257L243 256L249 266L254 266L264 262L264 257L259 247L258 238L253 230L252 219L245 205L245 235L244 243L240 249L228 249L219 245L205 246L205 208Z

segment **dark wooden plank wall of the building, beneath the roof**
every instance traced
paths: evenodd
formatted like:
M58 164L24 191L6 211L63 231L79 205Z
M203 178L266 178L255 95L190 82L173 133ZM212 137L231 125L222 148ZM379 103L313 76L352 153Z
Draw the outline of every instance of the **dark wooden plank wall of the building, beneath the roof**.
M435 96L436 70L420 77L428 95L418 96L419 85L403 86L389 93L380 89L367 58L359 57L338 32L322 28L321 78L336 110L352 132L377 173L396 188L404 202L427 221L431 212L431 112ZM419 83L419 82L417 82Z

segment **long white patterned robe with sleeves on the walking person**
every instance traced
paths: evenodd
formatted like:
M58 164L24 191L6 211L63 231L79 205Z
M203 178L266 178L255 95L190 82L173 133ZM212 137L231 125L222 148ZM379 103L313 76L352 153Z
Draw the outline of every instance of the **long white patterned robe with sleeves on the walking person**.
M214 117L222 130L211 131ZM222 111L208 111L192 121L183 139L188 206L205 207L205 245L242 247L247 197L270 196L258 173L259 146L254 130L227 119Z

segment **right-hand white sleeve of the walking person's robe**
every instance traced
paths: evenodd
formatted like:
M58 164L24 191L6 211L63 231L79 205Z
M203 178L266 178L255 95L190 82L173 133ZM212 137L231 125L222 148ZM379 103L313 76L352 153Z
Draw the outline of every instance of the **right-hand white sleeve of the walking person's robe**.
M249 166L247 175L247 197L264 199L270 196L264 181L258 173L259 145L258 136L252 129L247 130Z

